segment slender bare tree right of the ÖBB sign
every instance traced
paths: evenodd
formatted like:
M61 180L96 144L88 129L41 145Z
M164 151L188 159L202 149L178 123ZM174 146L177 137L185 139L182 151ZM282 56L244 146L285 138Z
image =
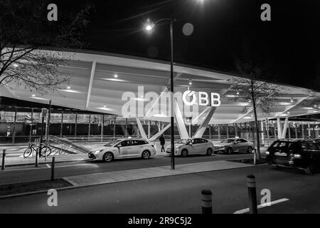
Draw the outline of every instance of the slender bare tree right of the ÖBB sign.
M234 98L243 104L243 113L253 111L255 118L255 132L257 145L257 158L260 159L260 135L257 120L257 110L263 113L266 117L274 110L274 104L277 103L279 93L284 93L284 86L261 81L262 75L267 71L267 67L254 65L252 62L237 61L236 67L241 78L233 79L233 90L235 91Z

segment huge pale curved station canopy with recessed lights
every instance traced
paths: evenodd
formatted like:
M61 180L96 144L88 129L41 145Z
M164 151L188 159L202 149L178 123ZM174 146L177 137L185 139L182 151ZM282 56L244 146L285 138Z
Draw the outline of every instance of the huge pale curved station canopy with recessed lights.
M168 62L93 51L63 54L68 58L65 64L58 66L57 71L68 72L70 82L61 85L58 91L40 94L25 86L14 85L11 88L1 86L0 95L46 104L52 100L52 104L57 106L124 116L122 108L128 102L128 100L122 100L124 93L134 93L134 100L144 105L149 104L149 107L152 108L151 100L138 94L139 86L143 86L144 94L154 92L160 98L161 94L170 88L170 64ZM220 94L221 103L215 108L210 124L249 122L254 120L252 108L247 108L246 112L243 110L248 103L230 99L235 95L231 84L233 78L236 77L228 73L175 63L174 90L181 93L189 89L196 92L204 91L208 94ZM279 95L272 113L267 116L265 113L257 113L259 120L320 113L319 107L306 105L308 100L313 99L306 93L306 89L286 87L288 89ZM154 100L154 102L159 102L159 100ZM201 123L211 108L210 106L198 106L198 115L192 117L192 123ZM144 116L139 117L145 120L170 121L166 113L149 114L146 111ZM188 118L183 112L181 115L186 123ZM134 118L134 116L130 117Z

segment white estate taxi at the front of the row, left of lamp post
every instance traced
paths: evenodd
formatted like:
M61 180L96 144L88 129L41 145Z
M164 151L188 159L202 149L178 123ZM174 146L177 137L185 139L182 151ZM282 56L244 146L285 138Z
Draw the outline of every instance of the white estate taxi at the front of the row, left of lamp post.
M111 162L114 159L142 157L148 159L156 155L156 148L148 140L125 139L109 142L102 147L90 150L88 157L92 160Z

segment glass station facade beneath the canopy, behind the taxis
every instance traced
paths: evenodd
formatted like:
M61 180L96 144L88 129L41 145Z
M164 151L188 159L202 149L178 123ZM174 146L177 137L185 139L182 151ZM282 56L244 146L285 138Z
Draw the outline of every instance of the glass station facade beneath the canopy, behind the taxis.
M29 112L4 111L0 112L0 143L32 142L41 135L41 110L30 109ZM46 135L48 118L44 118ZM152 137L168 123L159 121L140 120L148 138ZM277 138L277 122L259 121L260 141L269 144ZM198 125L186 125L191 135L195 135ZM135 118L122 118L114 115L63 113L53 111L50 115L49 135L57 135L73 141L95 142L112 138L141 137ZM164 132L170 138L170 128ZM255 140L255 125L253 122L237 124L208 125L203 138L222 140L233 137ZM179 138L175 126L175 138ZM319 123L289 121L286 138L319 138Z

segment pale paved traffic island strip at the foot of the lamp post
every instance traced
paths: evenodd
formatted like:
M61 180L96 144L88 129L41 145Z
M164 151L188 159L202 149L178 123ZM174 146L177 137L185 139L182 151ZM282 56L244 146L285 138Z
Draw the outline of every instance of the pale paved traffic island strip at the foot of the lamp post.
M114 182L130 180L142 180L154 177L168 177L173 175L186 175L196 172L208 172L216 170L229 170L242 167L252 167L238 162L213 161L198 162L192 164L176 165L176 170L171 170L170 166L149 167L137 170L122 170L116 172L100 172L90 175L78 175L74 177L64 177L75 187L85 187L91 185L103 185Z

